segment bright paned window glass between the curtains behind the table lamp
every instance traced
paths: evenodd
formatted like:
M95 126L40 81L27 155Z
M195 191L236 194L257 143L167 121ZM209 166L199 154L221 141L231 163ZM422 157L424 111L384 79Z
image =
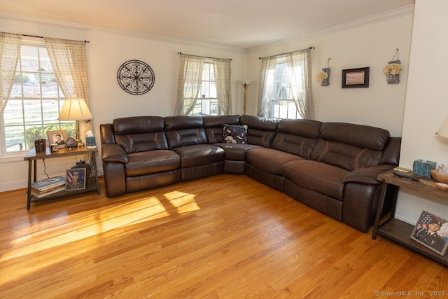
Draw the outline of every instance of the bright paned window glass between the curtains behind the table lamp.
M22 42L13 90L1 118L1 154L34 148L48 130L66 130L74 136L73 122L59 122L64 96L57 85L43 43Z

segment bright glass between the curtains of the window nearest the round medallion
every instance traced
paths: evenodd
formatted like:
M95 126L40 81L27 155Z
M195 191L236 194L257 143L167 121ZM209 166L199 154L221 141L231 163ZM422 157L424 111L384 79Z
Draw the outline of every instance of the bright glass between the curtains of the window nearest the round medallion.
M202 84L196 104L189 116L217 116L220 114L218 98L216 96L216 84L214 64L204 62L202 69Z

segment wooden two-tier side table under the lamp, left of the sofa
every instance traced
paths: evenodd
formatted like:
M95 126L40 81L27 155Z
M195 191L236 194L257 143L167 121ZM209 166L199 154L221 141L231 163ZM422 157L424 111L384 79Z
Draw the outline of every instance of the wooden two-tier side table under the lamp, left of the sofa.
M78 193L85 193L93 190L97 190L99 193L99 183L98 183L98 172L97 172L97 160L95 159L95 153L98 152L97 148L86 148L85 146L80 148L72 148L69 150L68 148L59 148L57 152L50 152L49 148L46 148L45 152L36 153L35 149L31 149L27 155L23 158L25 161L28 161L28 190L27 190L27 210L31 208L31 202L35 202L37 200L50 200L57 197L63 197ZM58 193L53 193L51 195L37 198L31 194L31 172L33 173L33 181L36 181L37 175L37 160L45 160L50 158L62 158L73 155L84 155L86 153L92 154L92 162L93 162L93 171L94 177L88 179L85 184L85 189L82 190L62 190Z

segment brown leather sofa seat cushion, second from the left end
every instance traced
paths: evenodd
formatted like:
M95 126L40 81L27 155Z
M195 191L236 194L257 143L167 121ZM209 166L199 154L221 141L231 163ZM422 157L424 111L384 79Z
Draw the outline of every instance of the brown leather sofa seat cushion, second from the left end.
M193 146L181 146L173 148L181 157L181 167L196 167L216 162L223 162L225 152L223 148L213 144L195 144Z

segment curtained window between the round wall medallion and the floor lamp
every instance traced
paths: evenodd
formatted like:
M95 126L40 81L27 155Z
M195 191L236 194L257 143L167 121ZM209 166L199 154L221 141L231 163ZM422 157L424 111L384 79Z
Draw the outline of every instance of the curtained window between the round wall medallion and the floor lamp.
M181 54L175 116L229 115L230 60Z

